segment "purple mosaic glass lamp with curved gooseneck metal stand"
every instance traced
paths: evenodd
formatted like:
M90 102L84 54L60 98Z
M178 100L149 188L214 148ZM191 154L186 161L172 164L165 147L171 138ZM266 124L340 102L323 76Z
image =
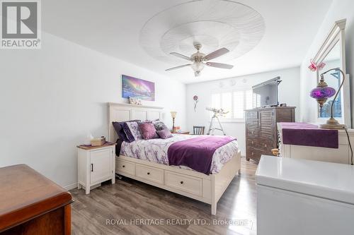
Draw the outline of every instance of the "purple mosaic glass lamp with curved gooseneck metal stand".
M330 71L340 71L342 74L342 83L339 86L337 92L334 88L331 88L327 85L327 83L324 81L324 75L326 73L329 73ZM319 125L319 128L327 128L327 129L343 129L346 128L346 125L340 124L336 119L333 118L333 104L336 101L336 98L338 96L339 91L341 90L344 80L346 79L346 76L344 75L343 71L340 68L331 68L330 70L321 73L321 79L319 80L319 84L317 85L316 88L314 88L310 92L310 96L314 99L316 99L317 103L319 103L320 110L322 110L322 107L324 106L324 103L326 103L327 99L332 97L334 94L336 94L333 98L333 102L331 104L331 118L326 121L326 124L321 124Z

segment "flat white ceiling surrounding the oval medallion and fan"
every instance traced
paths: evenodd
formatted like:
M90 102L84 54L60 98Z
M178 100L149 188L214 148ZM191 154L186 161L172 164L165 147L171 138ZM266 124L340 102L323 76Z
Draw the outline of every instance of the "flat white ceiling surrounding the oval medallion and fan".
M261 42L243 56L227 61L234 65L232 70L207 67L197 78L189 67L166 72L166 68L185 64L185 61L158 61L139 44L140 30L149 18L185 2L188 1L46 0L42 1L42 28L183 83L195 83L299 66L332 0L238 1L263 16L265 34ZM217 62L217 59L213 61Z

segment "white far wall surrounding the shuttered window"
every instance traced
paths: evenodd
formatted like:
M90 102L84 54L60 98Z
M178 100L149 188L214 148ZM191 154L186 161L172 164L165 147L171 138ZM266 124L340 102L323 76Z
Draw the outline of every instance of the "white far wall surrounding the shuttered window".
M257 73L249 76L214 80L204 83L193 83L187 85L187 126L189 131L193 131L193 126L209 127L210 112L205 107L210 107L210 95L213 91L229 90L236 88L249 88L265 80L281 77L282 83L279 85L279 102L287 103L287 106L299 107L299 67L287 68L279 71L267 73ZM195 78L198 79L198 78ZM197 111L194 112L193 96L198 95L199 102ZM297 109L295 109L297 110ZM296 112L298 119L298 115ZM244 122L223 122L222 126L227 135L233 135L239 140L241 154L246 152L246 133Z

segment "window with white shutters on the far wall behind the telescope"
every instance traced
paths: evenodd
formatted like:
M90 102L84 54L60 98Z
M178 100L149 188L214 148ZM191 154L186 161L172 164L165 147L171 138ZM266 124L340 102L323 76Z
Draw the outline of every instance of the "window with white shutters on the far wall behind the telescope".
M228 112L222 116L224 121L244 121L244 109L255 107L252 90L215 92L212 94L211 105L212 108Z

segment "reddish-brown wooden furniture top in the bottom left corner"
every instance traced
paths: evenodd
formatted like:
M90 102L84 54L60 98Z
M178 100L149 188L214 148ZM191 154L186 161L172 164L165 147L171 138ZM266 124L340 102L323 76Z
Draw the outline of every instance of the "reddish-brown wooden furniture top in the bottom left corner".
M25 164L0 168L0 234L71 234L72 195Z

